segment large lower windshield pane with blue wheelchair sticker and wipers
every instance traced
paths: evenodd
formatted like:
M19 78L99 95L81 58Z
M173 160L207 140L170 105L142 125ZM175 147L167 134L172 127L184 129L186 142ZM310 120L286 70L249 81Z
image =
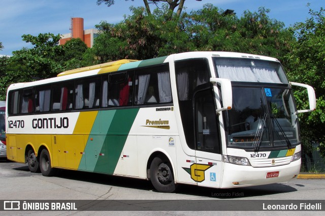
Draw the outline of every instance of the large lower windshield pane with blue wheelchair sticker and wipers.
M233 87L233 108L226 114L229 147L258 150L299 144L289 89Z

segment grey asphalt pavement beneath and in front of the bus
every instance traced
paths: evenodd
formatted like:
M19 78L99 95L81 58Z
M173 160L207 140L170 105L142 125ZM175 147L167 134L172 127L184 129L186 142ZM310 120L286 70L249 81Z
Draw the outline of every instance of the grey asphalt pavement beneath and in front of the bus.
M41 173L29 172L27 164L0 160L0 195L1 200L226 200L229 202L252 200L252 203L261 200L325 200L325 179L296 179L266 186L222 190L180 185L176 193L164 194L155 191L150 182L142 179L71 170L61 170L54 177L45 177ZM325 204L322 208L325 209ZM17 214L17 212L11 213L11 215ZM20 214L26 213L25 211ZM41 215L39 211L36 213ZM50 213L70 215L77 212L52 211ZM78 212L78 215L89 213L90 211ZM94 214L102 213L103 211L94 212ZM118 212L112 211L109 214L116 213ZM143 215L143 212L139 211L127 211L127 213ZM213 212L210 213L213 215ZM250 212L256 215L270 215L269 213L272 214ZM285 215L289 213L295 212L286 211ZM319 211L318 213L303 211L303 213L317 215ZM10 212L7 211L6 214ZM194 215L194 211L184 213L166 209L158 213L149 211L148 214ZM224 215L237 214L224 211Z

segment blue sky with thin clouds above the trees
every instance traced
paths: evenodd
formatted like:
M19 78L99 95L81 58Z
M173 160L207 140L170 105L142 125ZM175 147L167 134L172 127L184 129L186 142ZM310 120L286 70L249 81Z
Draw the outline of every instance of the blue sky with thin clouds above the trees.
M308 3L314 11L325 6L324 0L186 0L185 11L202 9L207 3L222 10L235 10L238 17L246 10L255 12L265 7L271 10L269 17L284 22L285 27L309 17ZM0 0L0 42L5 47L0 50L0 56L12 55L12 51L23 47L31 48L29 43L22 41L23 34L69 33L72 17L84 18L84 29L95 28L101 21L117 23L124 15L131 15L131 6L144 4L142 0L115 0L113 6L107 7L96 5L96 0ZM151 5L151 10L154 7Z

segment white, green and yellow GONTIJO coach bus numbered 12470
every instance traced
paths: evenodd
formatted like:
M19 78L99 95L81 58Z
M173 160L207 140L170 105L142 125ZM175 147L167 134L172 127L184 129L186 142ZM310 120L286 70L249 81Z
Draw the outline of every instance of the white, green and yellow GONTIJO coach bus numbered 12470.
M297 111L293 85L307 89L309 110ZM7 157L31 172L129 176L173 192L295 179L298 113L316 100L275 58L188 52L12 84L6 107Z

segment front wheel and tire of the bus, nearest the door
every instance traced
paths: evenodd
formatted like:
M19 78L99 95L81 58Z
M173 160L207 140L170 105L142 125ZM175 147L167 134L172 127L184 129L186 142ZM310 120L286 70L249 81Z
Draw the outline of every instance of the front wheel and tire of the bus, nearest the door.
M150 181L159 192L172 193L176 190L172 165L168 159L155 157L152 160Z

